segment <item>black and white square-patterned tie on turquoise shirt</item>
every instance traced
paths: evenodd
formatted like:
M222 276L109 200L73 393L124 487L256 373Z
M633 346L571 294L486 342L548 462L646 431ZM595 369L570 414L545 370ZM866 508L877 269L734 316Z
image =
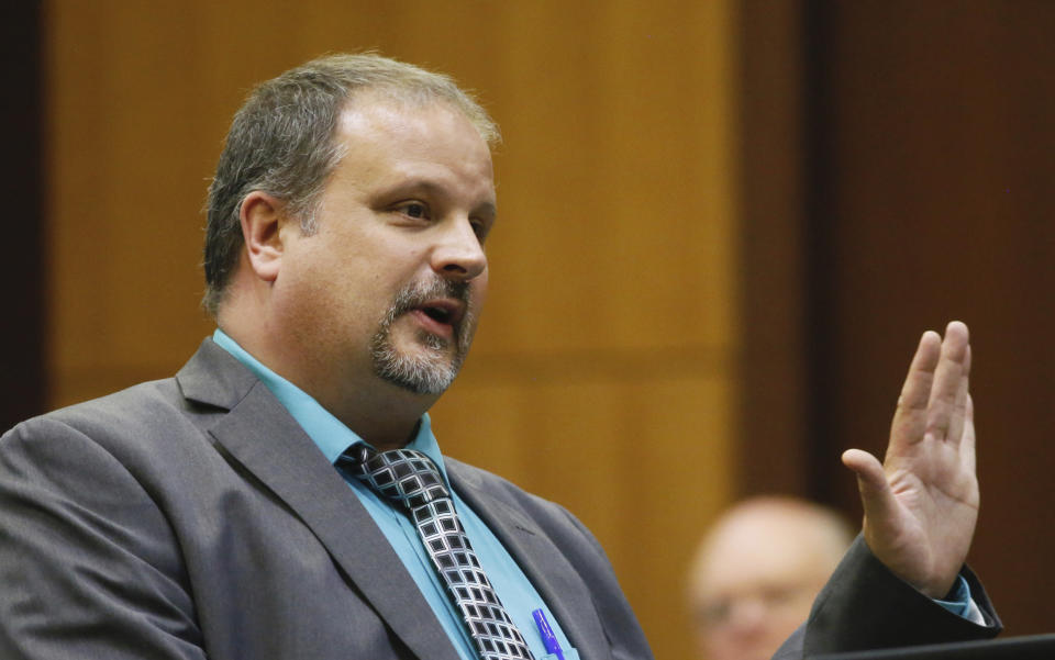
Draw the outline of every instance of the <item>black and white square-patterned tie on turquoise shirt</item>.
M462 613L484 660L532 659L469 546L451 493L427 456L413 449L375 451L357 445L337 465L410 513L432 564Z

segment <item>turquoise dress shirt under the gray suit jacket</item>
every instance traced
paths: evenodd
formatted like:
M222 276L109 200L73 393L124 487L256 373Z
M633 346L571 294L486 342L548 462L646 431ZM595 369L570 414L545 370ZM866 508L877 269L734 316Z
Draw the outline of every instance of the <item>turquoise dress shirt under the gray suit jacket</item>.
M360 443L368 444L330 414L308 393L265 367L222 331L218 329L212 338L267 385L331 463L348 447ZM469 537L469 542L487 572L499 600L501 600L513 623L517 624L521 635L528 641L532 655L536 659L546 657L538 628L531 616L532 611L542 608L549 619L562 648L566 649L565 657L567 660L576 660L578 656L570 648L564 631L560 629L559 622L549 612L531 581L528 580L528 577L524 575L524 572L484 521L458 496L454 489L451 489L443 456L440 452L436 438L432 435L427 414L422 415L418 425L418 433L414 439L407 445L407 448L424 452L440 468L440 472L443 474L444 481L447 482L448 490L451 490L454 507L458 512L458 517ZM408 516L396 511L391 504L381 500L377 493L357 479L349 478L340 470L338 473L345 478L345 481L391 544L392 549L396 550L403 566L407 567L408 572L410 572L425 601L429 602L436 614L436 618L440 619L455 649L465 660L477 660L479 656L475 650L473 638L465 627L462 614L447 596L446 588L440 581L440 577L432 566L432 559Z

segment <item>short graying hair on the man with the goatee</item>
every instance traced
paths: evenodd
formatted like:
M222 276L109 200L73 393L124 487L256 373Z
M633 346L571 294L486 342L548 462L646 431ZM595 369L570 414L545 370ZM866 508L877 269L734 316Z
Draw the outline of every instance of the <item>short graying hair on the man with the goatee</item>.
M448 103L489 145L500 139L487 111L448 76L379 55L330 55L263 82L234 115L209 187L202 300L209 313L216 314L237 267L246 195L259 190L285 201L301 231L315 231L319 197L344 155L337 119L366 90L415 107Z

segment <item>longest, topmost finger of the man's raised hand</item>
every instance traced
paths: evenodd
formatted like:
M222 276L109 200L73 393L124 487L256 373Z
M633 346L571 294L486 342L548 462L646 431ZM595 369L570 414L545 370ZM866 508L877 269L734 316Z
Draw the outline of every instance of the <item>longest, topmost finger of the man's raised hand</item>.
M926 410L924 434L936 440L959 441L964 429L967 403L967 376L970 370L970 346L967 326L953 321L945 328L941 357L934 371Z

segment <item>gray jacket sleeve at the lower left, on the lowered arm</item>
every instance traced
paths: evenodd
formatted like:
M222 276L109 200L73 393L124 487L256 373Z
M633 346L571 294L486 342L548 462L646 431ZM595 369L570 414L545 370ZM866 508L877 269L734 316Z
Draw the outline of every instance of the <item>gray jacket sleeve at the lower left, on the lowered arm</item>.
M0 658L206 658L178 548L82 433L36 418L0 438Z

